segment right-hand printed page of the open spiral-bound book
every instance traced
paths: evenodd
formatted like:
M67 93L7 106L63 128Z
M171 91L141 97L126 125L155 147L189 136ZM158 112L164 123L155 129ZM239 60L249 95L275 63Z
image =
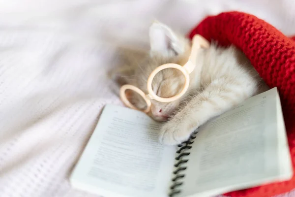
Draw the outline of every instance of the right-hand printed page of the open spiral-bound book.
M282 117L273 88L201 127L186 158L181 196L206 197L290 179L293 172Z

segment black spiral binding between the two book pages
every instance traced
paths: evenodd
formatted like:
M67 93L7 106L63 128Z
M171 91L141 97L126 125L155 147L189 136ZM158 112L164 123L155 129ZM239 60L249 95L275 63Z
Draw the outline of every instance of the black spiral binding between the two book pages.
M188 152L183 152L184 150L189 150L192 148L191 144L194 143L192 141L193 139L196 138L196 134L198 131L195 131L188 140L182 142L181 144L178 145L179 149L177 150L177 154L179 154L175 159L178 161L176 164L174 164L175 167L177 167L176 170L173 171L173 174L175 174L175 177L172 179L173 185L170 187L171 193L169 194L169 197L174 197L175 195L179 194L181 190L177 189L179 186L183 184L181 182L181 179L184 178L185 174L181 173L183 170L186 170L185 166L181 166L181 164L185 164L188 162L187 159L182 159L183 157L188 156L190 153Z

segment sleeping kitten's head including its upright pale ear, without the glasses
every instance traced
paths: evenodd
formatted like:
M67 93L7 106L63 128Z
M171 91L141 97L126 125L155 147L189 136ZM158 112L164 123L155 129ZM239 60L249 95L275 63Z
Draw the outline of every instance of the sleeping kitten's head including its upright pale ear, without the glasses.
M150 52L144 61L137 62L132 76L126 77L128 84L134 85L148 94L147 80L149 74L157 66L174 63L184 65L189 56L190 44L184 36L179 36L167 26L156 23L149 29ZM137 60L134 60L137 61ZM174 68L160 71L153 79L154 93L162 98L170 98L177 95L184 86L183 74ZM136 93L127 95L132 104L140 109L147 107L146 102ZM156 121L167 121L177 110L181 99L163 103L151 100L151 110L148 113Z

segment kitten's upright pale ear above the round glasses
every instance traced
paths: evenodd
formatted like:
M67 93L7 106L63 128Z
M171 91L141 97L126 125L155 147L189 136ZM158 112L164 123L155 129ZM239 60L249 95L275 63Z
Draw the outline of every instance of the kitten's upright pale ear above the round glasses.
M176 56L184 52L184 41L168 26L155 21L149 28L150 55Z

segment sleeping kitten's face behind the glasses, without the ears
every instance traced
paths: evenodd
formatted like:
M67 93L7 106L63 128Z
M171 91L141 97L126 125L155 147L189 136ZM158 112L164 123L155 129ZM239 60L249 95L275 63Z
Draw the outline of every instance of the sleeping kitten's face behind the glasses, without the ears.
M150 72L157 66L161 66L167 63L180 64L177 58L163 57L148 57L144 62L139 65L135 70L134 80L130 80L129 84L132 84L141 89L145 94L148 94L147 79ZM167 68L160 71L153 79L152 89L153 92L162 98L170 98L177 95L184 86L184 76L177 69ZM147 107L144 99L136 93L129 95L129 100L138 108L144 109ZM178 108L181 99L172 102L159 102L151 100L151 110L148 113L156 121L167 121L171 115Z

